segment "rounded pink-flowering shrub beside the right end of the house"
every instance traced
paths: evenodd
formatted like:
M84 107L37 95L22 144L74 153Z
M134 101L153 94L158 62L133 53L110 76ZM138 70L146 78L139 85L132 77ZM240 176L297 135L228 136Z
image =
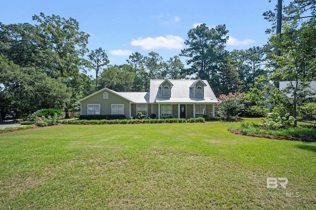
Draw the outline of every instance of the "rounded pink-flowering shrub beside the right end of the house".
M225 119L236 119L243 109L243 96L242 94L220 95L218 100L220 103L217 104L218 112L224 116Z

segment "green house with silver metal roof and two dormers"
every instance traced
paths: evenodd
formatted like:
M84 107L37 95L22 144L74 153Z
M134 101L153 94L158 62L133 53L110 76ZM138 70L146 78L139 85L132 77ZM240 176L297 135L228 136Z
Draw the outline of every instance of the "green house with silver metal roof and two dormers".
M214 117L218 103L206 80L151 79L150 92L116 92L103 88L76 102L80 115L124 114L137 117L138 111L156 118Z

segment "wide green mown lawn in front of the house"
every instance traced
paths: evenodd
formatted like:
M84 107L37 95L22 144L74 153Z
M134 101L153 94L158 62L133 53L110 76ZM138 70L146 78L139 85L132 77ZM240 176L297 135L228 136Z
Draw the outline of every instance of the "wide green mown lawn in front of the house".
M315 209L316 143L227 131L238 124L0 134L0 209ZM287 188L267 189L267 177Z

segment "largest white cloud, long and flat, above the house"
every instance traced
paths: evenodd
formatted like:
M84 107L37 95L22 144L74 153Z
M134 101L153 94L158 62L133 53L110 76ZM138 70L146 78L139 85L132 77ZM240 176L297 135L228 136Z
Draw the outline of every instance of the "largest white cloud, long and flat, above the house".
M184 39L180 36L166 35L158 37L138 38L130 42L133 46L141 46L144 50L152 50L158 48L181 49Z

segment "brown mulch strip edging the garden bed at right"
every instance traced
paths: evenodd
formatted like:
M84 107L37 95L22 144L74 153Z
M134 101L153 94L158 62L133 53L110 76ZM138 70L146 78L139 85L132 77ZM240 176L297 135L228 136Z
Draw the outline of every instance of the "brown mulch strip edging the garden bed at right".
M292 136L277 136L277 135L268 135L268 134L247 134L245 132L230 129L228 130L230 133L242 135L242 136L249 136L249 137L260 137L260 138L267 138L267 139L276 139L276 140L299 140L299 141L316 141L311 137L292 137Z

